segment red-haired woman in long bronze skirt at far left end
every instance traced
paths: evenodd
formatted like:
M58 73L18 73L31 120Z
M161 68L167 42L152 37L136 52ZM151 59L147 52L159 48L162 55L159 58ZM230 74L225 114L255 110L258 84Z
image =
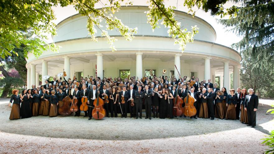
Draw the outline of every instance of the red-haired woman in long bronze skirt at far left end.
M12 103L13 100L13 104L12 104L12 110L11 110L11 114L10 114L10 120L12 119L20 119L20 96L18 95L19 90L14 89L12 90L12 96L11 96L11 100L10 100L10 104Z

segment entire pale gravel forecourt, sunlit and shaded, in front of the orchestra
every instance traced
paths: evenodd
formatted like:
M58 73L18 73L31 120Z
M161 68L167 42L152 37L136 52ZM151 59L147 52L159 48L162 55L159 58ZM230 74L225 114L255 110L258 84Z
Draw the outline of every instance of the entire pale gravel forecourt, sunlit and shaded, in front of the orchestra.
M0 153L263 153L260 139L274 129L266 114L274 100L259 100L255 129L216 118L9 120L8 101L0 99Z

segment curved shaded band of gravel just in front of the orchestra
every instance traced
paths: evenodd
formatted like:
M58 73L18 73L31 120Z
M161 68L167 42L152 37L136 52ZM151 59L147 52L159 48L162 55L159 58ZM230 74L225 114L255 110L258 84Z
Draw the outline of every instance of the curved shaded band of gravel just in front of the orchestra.
M257 112L257 131L269 134L259 124L269 122L273 115L266 114L269 105L259 105ZM97 140L143 140L154 138L174 138L239 128L247 128L239 120L216 119L134 119L104 118L88 120L73 116L37 116L27 119L9 120L10 108L0 104L0 131L22 135L43 136L52 138L83 138Z

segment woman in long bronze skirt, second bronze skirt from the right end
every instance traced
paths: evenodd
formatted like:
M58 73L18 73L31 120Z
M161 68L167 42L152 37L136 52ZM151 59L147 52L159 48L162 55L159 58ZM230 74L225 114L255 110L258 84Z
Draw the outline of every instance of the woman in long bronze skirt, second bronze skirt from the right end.
M237 106L237 96L234 95L235 90L230 89L230 95L227 96L226 106L226 116L225 119L236 120L236 106Z

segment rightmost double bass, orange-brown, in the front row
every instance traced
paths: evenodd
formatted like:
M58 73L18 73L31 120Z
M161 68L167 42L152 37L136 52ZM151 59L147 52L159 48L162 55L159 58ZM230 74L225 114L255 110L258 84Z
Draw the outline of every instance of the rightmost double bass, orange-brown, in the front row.
M191 84L189 84L189 86L191 86ZM192 116L196 115L197 111L196 111L195 106L193 105L195 100L188 93L188 89L189 88L187 87L187 96L184 99L184 102L185 102L185 106L184 106L185 113L184 113L184 115L188 116L188 117L192 117Z

